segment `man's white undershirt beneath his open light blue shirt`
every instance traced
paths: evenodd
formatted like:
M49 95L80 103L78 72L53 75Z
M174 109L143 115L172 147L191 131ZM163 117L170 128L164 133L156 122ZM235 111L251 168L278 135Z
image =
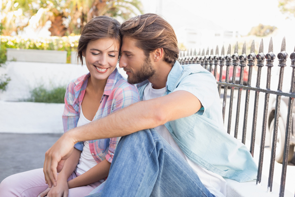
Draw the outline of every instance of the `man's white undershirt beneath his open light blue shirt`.
M149 83L144 89L143 100L150 100L152 98L157 98L165 95L166 87L161 89L152 88L152 84ZM165 125L160 125L155 127L155 130L172 146L172 148L179 153L193 168L195 173L199 176L202 183L205 187L216 197L225 197L226 196L226 181L218 174L215 174L196 163L192 162L180 149L178 144L174 141L171 134Z

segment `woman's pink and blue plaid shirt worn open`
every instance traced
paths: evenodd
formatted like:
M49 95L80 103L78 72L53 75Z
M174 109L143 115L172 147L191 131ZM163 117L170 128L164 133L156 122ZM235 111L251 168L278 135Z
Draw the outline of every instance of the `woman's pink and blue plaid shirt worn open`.
M83 75L69 83L65 95L65 110L63 114L64 131L77 127L80 117L80 106L85 95L90 73ZM98 111L93 120L125 108L139 101L139 94L134 85L127 83L122 75L115 70L109 75L104 92L100 101ZM99 101L97 101L99 102ZM120 137L89 140L90 152L97 163L107 159L112 162L114 151ZM75 148L83 151L83 141L75 144Z

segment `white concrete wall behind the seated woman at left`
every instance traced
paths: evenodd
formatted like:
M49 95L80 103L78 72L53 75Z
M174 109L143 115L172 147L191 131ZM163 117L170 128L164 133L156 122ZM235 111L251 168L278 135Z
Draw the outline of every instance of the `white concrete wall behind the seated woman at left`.
M123 69L121 74L126 76ZM0 76L7 74L11 81L7 90L0 91L0 132L62 133L64 104L21 102L30 91L40 86L67 85L71 80L88 73L85 66L36 62L7 62Z

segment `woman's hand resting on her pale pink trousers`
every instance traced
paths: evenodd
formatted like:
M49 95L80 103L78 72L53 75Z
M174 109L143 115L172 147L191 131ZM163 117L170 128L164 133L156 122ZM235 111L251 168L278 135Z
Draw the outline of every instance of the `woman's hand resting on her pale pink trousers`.
M57 185L55 187L47 188L43 192L41 192L37 197L44 197L47 195L47 197L68 197L69 194L69 186L68 182L65 179L57 180Z

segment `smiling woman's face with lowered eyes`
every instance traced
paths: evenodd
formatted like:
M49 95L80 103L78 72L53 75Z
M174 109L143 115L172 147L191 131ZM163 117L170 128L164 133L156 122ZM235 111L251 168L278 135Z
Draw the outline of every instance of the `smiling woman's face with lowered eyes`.
M119 57L120 43L110 38L90 41L83 52L86 66L97 80L105 80L115 69Z

